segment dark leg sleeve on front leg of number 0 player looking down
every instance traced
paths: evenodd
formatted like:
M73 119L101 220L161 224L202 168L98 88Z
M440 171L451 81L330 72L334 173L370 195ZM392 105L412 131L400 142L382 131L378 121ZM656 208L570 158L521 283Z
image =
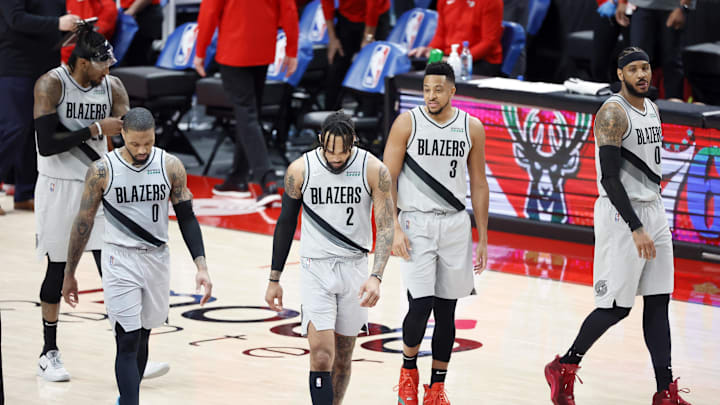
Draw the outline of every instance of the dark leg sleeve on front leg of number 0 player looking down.
M140 345L140 329L126 332L115 324L115 379L120 391L120 405L138 405L140 401L140 374L137 358Z

